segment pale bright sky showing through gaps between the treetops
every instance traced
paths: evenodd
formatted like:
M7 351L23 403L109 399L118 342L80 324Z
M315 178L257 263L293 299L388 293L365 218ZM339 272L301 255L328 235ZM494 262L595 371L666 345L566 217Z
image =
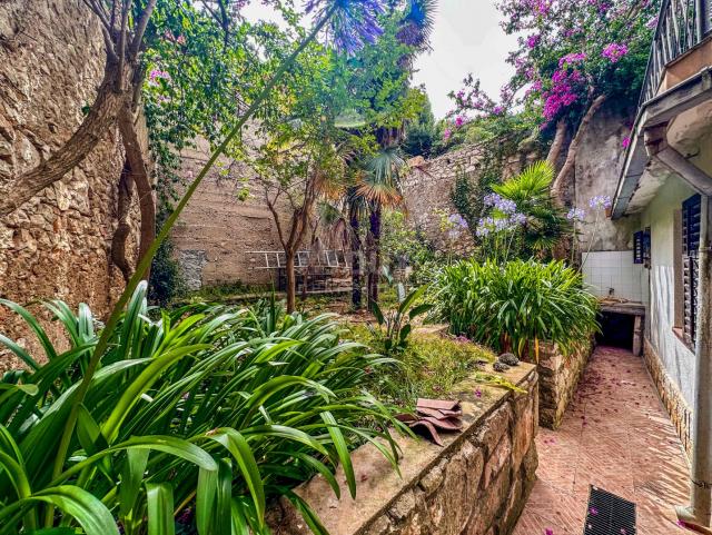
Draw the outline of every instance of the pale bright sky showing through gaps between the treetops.
M514 68L505 62L516 38L500 28L500 13L494 0L439 0L435 29L431 39L433 51L415 63L414 85L425 85L436 119L453 108L447 98L457 91L472 72L482 80L482 88L493 98L511 78ZM251 2L244 13L248 19L274 19L271 8Z

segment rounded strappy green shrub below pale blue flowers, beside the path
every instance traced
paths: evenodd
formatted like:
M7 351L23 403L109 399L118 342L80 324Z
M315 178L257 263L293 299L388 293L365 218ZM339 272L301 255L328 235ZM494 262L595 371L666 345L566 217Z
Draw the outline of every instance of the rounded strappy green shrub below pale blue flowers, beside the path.
M465 260L443 268L435 288L436 311L454 334L523 358L537 359L540 340L568 351L599 329L595 297L562 261Z

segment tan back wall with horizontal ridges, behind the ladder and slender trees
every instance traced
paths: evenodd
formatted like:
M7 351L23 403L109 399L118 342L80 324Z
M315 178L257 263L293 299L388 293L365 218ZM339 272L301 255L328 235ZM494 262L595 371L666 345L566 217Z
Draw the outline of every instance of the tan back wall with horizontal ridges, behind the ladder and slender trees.
M185 149L181 176L192 179L210 156L207 142ZM190 289L227 283L264 285L274 270L258 269L263 258L249 251L283 250L271 212L251 171L240 162L221 159L196 190L172 231L174 246ZM249 191L245 200L238 198ZM280 207L288 232L289 214Z

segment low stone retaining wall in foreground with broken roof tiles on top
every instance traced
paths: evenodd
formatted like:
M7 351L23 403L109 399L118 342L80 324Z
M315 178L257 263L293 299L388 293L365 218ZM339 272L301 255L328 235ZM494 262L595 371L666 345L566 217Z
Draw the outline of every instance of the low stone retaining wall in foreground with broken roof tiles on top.
M357 498L350 498L343 472L338 499L322 476L297 489L332 535L508 535L535 480L537 375L522 364L505 376L525 393L464 383L465 428L444 436L445 446L398 438L399 477L367 445L353 455ZM270 512L277 535L310 533L281 503Z

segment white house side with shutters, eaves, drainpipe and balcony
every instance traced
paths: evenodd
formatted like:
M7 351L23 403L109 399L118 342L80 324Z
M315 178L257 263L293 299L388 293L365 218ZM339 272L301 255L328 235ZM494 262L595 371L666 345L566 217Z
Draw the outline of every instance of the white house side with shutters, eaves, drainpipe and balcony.
M692 462L682 521L710 526L712 489L712 3L664 0L612 222L630 228L642 353Z

